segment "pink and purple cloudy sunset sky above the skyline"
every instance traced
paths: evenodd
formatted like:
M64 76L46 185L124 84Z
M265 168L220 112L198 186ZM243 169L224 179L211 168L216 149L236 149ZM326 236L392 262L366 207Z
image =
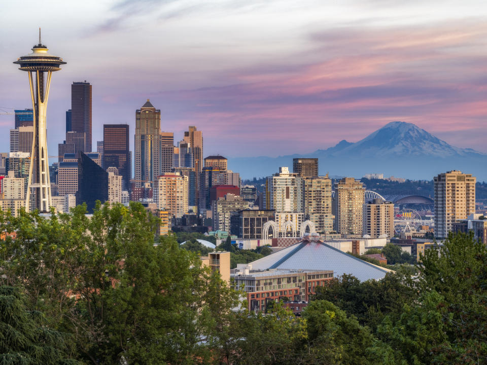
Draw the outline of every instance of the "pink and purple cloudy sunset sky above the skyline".
M147 98L204 154L277 156L415 123L487 152L487 3L299 0L2 2L0 108L31 107L12 64L37 44L67 62L53 75L48 148L64 139L71 83L93 85L93 145ZM0 116L8 152L11 115ZM133 148L132 148L133 150ZM51 159L51 163L57 159Z

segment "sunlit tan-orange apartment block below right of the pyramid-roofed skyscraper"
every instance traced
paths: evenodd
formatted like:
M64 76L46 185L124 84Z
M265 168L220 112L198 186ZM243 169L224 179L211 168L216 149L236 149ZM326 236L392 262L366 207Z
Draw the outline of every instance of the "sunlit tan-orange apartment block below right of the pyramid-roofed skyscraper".
M181 218L188 212L188 176L166 172L154 181L154 202L160 210Z

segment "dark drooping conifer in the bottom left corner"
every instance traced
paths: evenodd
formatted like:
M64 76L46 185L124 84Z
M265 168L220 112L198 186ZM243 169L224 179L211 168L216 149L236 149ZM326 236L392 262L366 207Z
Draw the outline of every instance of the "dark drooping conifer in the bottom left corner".
M71 337L46 326L42 312L28 311L25 298L12 286L0 286L0 363L78 364Z

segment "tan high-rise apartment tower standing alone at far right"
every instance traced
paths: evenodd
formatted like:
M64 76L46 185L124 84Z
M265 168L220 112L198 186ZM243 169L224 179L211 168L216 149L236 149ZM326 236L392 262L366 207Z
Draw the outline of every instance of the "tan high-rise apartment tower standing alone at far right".
M446 237L453 223L475 213L475 182L474 176L457 170L434 177L436 237Z

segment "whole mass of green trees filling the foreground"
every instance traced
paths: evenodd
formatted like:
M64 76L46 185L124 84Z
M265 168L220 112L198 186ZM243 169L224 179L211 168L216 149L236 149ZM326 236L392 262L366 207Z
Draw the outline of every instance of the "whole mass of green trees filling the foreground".
M296 317L248 312L199 252L155 240L139 203L85 213L0 214L0 363L487 363L487 250L472 236L428 249L414 279L335 278Z

